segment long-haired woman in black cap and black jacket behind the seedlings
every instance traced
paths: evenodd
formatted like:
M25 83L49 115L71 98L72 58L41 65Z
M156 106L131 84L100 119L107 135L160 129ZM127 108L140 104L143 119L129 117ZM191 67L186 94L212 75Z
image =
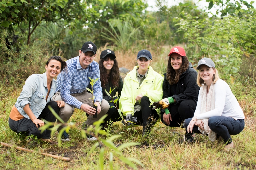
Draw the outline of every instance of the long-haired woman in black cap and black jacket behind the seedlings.
M105 123L103 123L104 128L106 128L110 119L113 122L122 120L112 98L105 91L107 90L107 92L109 92L111 89L111 96L115 100L118 96L120 96L123 88L123 81L119 75L120 71L114 51L107 49L101 52L99 60L99 71L103 99L107 100L110 106L109 111L106 113L108 116L104 119ZM116 96L116 92L118 92L118 96ZM116 105L119 107L118 101Z

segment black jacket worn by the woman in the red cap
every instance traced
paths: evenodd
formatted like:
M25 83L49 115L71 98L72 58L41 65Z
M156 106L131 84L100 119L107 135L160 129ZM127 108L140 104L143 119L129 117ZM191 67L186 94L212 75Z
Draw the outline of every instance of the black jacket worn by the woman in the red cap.
M196 83L197 72L189 63L188 69L180 75L176 84L170 85L164 74L163 98L172 97L176 100L174 104L180 104L183 100L193 99L196 103L200 87Z

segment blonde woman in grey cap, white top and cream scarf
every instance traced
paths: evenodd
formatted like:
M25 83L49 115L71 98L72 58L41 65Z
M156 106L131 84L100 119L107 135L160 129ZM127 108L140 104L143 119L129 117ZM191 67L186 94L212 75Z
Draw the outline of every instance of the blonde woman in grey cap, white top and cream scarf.
M229 150L234 147L230 135L244 129L244 113L229 85L221 80L214 62L202 58L196 68L197 84L201 87L193 118L185 120L186 140L194 141L194 133L208 135L211 141L223 138Z

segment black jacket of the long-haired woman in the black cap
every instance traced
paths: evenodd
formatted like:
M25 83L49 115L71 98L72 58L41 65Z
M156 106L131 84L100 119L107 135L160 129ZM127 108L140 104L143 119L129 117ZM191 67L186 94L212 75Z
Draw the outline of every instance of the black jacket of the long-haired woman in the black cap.
M105 100L107 100L108 102L110 102L110 101L112 100L111 97L108 96L107 93L106 93L106 91L105 91L105 89L106 89L107 92L109 92L109 91L110 91L110 88L111 88L111 90L115 88L115 89L112 91L111 96L116 96L116 92L118 92L118 96L120 96L121 91L122 91L122 89L123 89L123 81L122 81L122 78L121 78L120 76L119 76L118 85L119 85L119 87L115 88L115 87L112 85L111 81L109 80L109 82L106 84L106 87L102 87L103 98L104 98ZM114 102L111 102L111 103L114 103Z

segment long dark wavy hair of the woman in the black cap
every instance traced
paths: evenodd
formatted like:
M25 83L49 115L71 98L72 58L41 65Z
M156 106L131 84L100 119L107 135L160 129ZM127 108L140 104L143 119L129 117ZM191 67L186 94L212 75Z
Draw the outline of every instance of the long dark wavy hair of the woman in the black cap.
M119 74L120 70L118 67L118 62L116 59L110 57L114 61L114 65L110 71L110 74L107 74L105 67L103 66L104 60L108 59L109 57L106 56L105 58L102 58L99 60L99 72L100 72L100 81L101 81L101 87L106 87L105 85L111 80L111 83L114 87L119 87Z

